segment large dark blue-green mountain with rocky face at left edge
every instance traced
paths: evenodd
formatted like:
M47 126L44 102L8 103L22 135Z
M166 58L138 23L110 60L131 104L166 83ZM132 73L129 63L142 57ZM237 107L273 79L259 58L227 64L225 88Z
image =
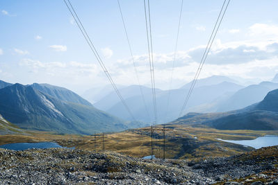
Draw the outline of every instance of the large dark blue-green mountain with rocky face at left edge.
M92 134L128 128L124 121L96 109L59 100L32 86L0 89L0 114L15 125L60 133Z

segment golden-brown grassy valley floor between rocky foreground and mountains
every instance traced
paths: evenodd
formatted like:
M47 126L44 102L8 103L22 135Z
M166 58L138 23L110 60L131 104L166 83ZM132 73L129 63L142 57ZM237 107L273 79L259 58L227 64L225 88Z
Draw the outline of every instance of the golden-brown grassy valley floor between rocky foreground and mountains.
M157 126L161 127L162 126ZM217 130L208 127L190 127L167 124L172 130L165 132L165 158L167 159L202 159L204 157L222 157L237 155L254 150L251 147L219 141L248 140L258 136L278 135L277 130ZM49 132L28 132L28 134L0 135L0 145L6 143L33 143L51 141L60 146L74 147L81 150L103 150L103 136L81 136L74 134L51 134ZM96 141L96 142L95 142ZM154 132L153 153L156 158L163 158L163 132ZM104 149L120 152L133 157L145 157L151 153L150 132L145 128L104 135Z

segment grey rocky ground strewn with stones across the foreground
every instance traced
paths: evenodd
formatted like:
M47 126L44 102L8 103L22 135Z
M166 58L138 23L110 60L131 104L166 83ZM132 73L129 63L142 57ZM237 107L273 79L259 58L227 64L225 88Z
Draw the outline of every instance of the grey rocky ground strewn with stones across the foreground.
M115 152L0 149L0 184L278 184L278 147L200 161Z

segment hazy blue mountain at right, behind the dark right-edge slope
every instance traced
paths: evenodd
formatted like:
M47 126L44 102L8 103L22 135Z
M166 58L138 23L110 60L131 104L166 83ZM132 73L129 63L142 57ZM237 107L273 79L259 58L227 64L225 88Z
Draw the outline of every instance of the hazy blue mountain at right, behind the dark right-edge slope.
M261 82L259 85L250 85L238 90L234 95L223 100L218 105L217 112L227 112L234 109L241 109L253 103L257 103L268 94L269 91L278 89L278 83Z

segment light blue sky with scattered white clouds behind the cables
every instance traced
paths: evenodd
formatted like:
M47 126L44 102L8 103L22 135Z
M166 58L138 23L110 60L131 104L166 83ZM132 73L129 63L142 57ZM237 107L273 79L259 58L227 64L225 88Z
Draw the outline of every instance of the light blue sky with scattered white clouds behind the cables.
M115 84L138 84L117 0L72 0ZM193 80L221 0L183 1L172 88ZM150 87L142 0L120 0L141 85ZM168 89L181 0L150 0L156 87ZM200 78L271 80L278 73L278 1L231 0ZM0 80L78 94L109 82L63 0L0 1Z

